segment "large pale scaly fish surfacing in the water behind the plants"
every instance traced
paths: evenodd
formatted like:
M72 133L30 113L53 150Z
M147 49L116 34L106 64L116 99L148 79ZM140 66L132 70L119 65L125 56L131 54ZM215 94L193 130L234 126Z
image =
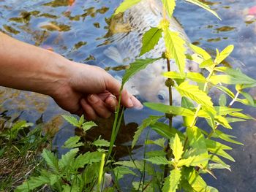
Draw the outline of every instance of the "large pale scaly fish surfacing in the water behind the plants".
M143 11L142 11L143 7ZM118 15L118 30L114 31L113 23L111 24L112 37L109 41L111 45L106 48L103 53L117 64L129 64L136 58L159 58L165 52L164 39L159 39L158 44L153 50L139 56L142 47L143 34L151 27L157 27L162 20L162 1L159 0L142 0L135 6L127 9L121 17ZM189 38L184 29L178 23L176 18L168 18L170 21L170 30L178 32L179 36L185 40L187 48L186 54L192 54L189 49ZM124 24L127 31L120 30L120 23ZM127 27L129 26L129 27ZM120 32L121 31L121 32ZM170 61L170 69L178 71L175 61ZM198 64L186 61L186 72L200 72ZM124 88L143 101L158 102L169 104L169 91L165 86L167 80L162 76L162 72L167 72L167 64L165 59L160 59L150 64L146 69L141 70L124 85ZM178 91L173 88L173 105L181 105L181 96Z

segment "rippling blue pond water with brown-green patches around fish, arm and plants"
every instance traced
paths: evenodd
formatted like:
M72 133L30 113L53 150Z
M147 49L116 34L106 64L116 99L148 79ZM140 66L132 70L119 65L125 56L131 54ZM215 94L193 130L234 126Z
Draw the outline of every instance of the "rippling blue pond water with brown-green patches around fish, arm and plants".
M111 45L104 37L108 34L108 18L120 1L76 0L71 5L65 0L0 0L0 30L23 42L60 53L72 61L97 65L114 76L121 76L125 66L118 66L102 53ZM246 74L256 78L256 16L248 15L248 8L255 6L256 1L205 2L218 12L222 20L192 4L178 2L176 7L176 18L184 27L191 42L209 51L215 51L215 48L222 50L230 44L235 45L228 62L242 66ZM256 91L252 91L251 94L255 97ZM242 106L235 104L234 107ZM255 109L243 108L255 117ZM58 133L54 144L57 147L75 133L74 128L64 123L60 117L67 112L61 110L52 99L37 93L0 88L1 112L4 112L6 117L19 117L33 123L42 121L48 124L48 128L56 128L55 131ZM121 138L125 139L120 139L118 144L130 145L136 128L135 123L140 124L143 118L151 114L155 115L156 112L146 109L126 110L124 121L129 125L124 126ZM110 121L102 120L96 131L109 137ZM200 126L204 125L204 122L200 122ZM256 191L255 122L236 123L233 130L228 130L227 133L235 135L244 146L227 144L233 147L230 155L236 160L235 163L226 161L230 164L232 172L214 171L217 180L206 176L207 183L224 192ZM140 145L147 134L148 130L143 133ZM153 131L149 134L151 139L157 138ZM91 139L94 139L94 133L91 133ZM127 147L121 147L119 150L126 151ZM138 157L143 151L143 147L140 147L133 153ZM64 153L61 147L59 153ZM120 157L125 154L126 152L120 154Z

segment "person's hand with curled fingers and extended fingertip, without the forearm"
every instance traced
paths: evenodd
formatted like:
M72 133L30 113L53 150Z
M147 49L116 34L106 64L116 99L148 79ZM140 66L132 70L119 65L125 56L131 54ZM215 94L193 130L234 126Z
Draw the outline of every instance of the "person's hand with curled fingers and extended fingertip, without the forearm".
M69 61L67 75L51 95L64 110L87 119L108 118L116 110L120 82L97 66ZM140 101L126 90L121 92L124 107L141 108Z

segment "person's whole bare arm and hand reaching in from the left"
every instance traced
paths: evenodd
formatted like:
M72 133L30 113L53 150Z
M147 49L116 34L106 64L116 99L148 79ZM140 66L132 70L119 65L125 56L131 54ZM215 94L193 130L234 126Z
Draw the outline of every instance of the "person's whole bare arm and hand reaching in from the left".
M1 86L51 96L64 110L89 120L108 118L117 107L121 85L97 66L69 61L1 32L0 58ZM142 107L126 90L121 92L121 104Z

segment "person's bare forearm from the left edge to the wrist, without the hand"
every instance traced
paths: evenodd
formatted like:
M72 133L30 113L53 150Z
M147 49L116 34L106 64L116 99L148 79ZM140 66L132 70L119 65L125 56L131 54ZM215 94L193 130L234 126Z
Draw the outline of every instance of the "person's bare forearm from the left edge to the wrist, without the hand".
M67 80L66 58L2 33L0 58L1 86L51 95Z

